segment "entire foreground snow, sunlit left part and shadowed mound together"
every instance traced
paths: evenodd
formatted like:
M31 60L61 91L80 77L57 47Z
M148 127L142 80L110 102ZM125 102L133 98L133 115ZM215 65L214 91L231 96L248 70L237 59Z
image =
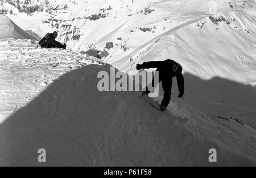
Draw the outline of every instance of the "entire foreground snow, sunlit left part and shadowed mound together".
M77 52L21 39L2 39L0 47L0 165L256 164L249 125L176 99L166 114L137 92L99 92L97 74L110 65ZM38 163L40 148L46 164ZM210 148L217 163L208 162Z

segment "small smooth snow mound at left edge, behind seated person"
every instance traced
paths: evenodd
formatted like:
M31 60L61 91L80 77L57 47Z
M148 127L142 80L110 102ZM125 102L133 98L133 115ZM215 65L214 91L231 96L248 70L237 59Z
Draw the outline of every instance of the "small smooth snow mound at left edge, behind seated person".
M28 35L18 27L10 18L0 14L0 39L2 38L15 38L15 39L33 39L33 36Z

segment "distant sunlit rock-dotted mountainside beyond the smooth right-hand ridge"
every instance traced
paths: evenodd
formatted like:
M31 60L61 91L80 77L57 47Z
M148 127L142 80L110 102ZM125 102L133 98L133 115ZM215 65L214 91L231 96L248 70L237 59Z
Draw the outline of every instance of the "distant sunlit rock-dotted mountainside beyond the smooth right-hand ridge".
M121 57L123 53L130 53L180 24L209 16L212 12L233 10L229 1L31 0L30 2L28 5L19 3L19 6L26 6L28 9L38 6L39 3L43 11L26 15L23 10L19 10L20 13L9 14L23 29L35 31L41 36L48 32L49 27L58 30L59 40L68 42L68 46L76 50L92 46L103 50L106 43L113 43L114 50L108 51L110 58L112 55ZM216 2L214 6L216 11L210 10L212 2ZM15 5L14 8L19 6Z

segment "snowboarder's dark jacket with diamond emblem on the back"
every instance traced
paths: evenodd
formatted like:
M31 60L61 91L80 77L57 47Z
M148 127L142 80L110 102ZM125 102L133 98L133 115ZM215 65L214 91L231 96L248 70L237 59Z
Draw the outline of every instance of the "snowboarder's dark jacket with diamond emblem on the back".
M164 61L144 62L141 67L143 69L157 68L156 71L159 71L159 80L162 80L163 78L168 79L170 77L176 77L179 92L184 93L184 77L182 74L182 67L179 63L176 63L174 60L167 59Z

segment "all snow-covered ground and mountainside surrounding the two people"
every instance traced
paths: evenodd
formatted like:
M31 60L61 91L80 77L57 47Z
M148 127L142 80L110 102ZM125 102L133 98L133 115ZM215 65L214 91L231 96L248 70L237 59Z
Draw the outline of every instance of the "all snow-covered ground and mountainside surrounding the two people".
M0 15L0 165L42 165L39 148L45 165L256 165L255 7L1 1L11 20ZM35 39L52 31L73 51L38 48ZM182 99L174 80L170 115L139 92L98 92L97 73L110 65L133 76L137 63L166 59L185 78ZM160 87L154 100L162 96Z

